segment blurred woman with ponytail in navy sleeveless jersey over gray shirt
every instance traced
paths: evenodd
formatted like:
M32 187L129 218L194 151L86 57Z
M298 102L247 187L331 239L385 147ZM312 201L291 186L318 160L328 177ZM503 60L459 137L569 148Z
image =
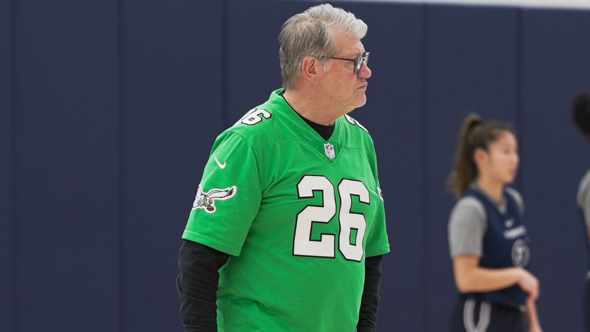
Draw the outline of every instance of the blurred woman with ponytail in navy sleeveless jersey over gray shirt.
M528 236L520 194L507 187L519 165L516 137L504 123L464 119L450 175L457 203L448 224L460 292L450 331L542 331L535 301L539 282L525 268Z

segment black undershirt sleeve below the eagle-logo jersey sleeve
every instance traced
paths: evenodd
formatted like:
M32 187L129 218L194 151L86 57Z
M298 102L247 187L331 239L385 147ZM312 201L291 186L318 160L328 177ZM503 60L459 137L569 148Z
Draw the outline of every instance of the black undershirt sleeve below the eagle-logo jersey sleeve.
M176 291L181 302L185 332L217 332L217 289L219 269L230 255L201 243L182 240L178 252L181 273Z

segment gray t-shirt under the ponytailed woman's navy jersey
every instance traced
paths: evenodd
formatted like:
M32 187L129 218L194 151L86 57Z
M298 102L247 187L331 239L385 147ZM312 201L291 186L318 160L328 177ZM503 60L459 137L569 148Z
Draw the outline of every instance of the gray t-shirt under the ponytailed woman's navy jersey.
M487 196L480 187L472 184L471 188L483 194L488 200L496 205L501 213L506 212L506 198L499 202ZM525 210L522 196L513 188L506 187L506 191L511 195L519 206L520 213ZM589 195L590 196L590 195ZM487 215L483 204L475 197L460 198L448 221L448 243L451 257L457 255L483 255L483 237L487 230Z

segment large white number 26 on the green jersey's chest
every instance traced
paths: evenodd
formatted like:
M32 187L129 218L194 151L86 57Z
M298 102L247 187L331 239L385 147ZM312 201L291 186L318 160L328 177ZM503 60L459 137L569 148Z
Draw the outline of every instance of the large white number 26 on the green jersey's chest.
M320 206L307 206L297 214L293 255L310 257L336 257L336 235L322 234L319 240L312 240L313 223L329 223L336 215L336 196L334 185L326 177L305 175L297 184L299 198L313 198L314 191L322 191L323 203ZM363 258L363 239L365 239L366 219L362 213L352 212L352 196L370 204L369 190L357 180L343 179L338 185L340 194L340 234L338 249L348 261L360 262ZM356 230L355 244L350 243L352 230Z

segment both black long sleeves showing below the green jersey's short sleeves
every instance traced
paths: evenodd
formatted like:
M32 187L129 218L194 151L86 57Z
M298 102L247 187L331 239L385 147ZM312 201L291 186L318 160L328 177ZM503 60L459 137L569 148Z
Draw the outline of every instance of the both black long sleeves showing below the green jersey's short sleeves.
M382 255L365 259L365 286L360 302L358 332L375 331L379 305ZM181 273L176 289L181 302L185 332L217 332L219 269L230 255L201 243L182 240L178 253Z

